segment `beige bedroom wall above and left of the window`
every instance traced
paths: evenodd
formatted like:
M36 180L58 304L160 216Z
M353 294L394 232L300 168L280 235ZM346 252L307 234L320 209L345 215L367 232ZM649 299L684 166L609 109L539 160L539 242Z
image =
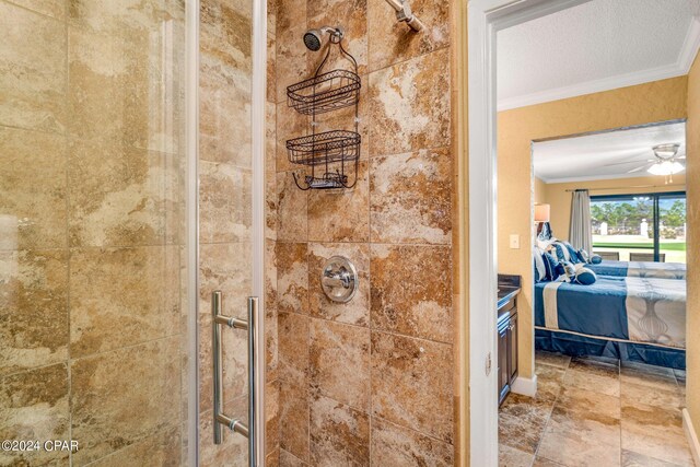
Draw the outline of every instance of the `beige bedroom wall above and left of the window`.
M639 188L640 186L648 188ZM610 187L614 188L608 189ZM569 240L571 192L567 190L582 188L587 188L591 196L682 191L686 189L686 176L684 174L674 175L673 184L668 185L664 185L664 178L658 176L546 184L544 186L545 195L542 197L545 201L542 202L547 202L551 207L550 223L557 238ZM537 200L535 200L535 202L537 202Z

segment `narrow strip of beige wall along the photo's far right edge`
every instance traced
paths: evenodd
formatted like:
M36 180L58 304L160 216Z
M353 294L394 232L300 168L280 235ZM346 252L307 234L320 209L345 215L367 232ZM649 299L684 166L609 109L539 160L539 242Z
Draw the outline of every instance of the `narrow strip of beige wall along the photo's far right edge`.
M687 407L695 427L700 434L700 56L688 74L688 124L686 127L688 144L688 305L686 351L687 364Z

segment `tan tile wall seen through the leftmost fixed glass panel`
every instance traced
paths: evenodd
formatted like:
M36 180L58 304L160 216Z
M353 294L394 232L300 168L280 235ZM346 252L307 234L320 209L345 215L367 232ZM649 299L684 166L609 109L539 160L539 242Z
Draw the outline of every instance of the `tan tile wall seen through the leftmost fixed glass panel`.
M0 465L179 465L184 21L0 1Z

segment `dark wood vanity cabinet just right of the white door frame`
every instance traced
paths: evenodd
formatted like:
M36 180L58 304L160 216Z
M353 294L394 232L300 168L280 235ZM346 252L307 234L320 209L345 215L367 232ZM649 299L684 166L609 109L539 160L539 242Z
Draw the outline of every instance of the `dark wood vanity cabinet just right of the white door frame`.
M511 385L517 377L517 307L513 296L503 307L499 308L498 320L498 384L499 405L511 390Z

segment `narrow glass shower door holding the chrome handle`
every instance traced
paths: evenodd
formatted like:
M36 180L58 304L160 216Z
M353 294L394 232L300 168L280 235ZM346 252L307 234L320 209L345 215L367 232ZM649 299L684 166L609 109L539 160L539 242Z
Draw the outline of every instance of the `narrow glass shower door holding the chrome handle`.
M249 320L248 297L261 295L261 281L256 280L262 264L261 217L255 215L254 208L264 186L261 178L256 178L260 167L253 157L256 150L261 149L261 140L254 141L253 131L254 87L259 84L253 80L254 3L254 0L202 0L199 9L198 448L201 465L249 465L249 440L218 424L215 419L217 413L225 415L250 428L248 404L252 395L259 397L249 389L246 329L230 328L222 322L217 325L222 349L212 339L214 293L221 297L221 314L245 322ZM257 7L261 3L257 1ZM261 37L265 50L266 38ZM258 157L257 162L260 161ZM258 319L259 325L260 322ZM217 357L220 357L219 386ZM264 369L260 357L258 352L255 367ZM214 400L215 387L220 389L220 407ZM220 439L214 436L218 425Z

